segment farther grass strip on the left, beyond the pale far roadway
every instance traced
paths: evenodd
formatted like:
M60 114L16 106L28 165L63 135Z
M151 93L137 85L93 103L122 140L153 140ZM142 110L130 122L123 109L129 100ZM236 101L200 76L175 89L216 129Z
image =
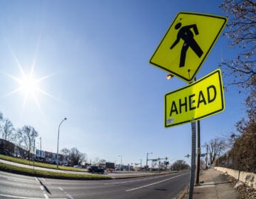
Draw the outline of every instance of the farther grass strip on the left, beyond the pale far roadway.
M15 157L11 157L11 156L4 156L4 155L0 154L0 159L3 159L5 161L11 161L11 162L15 162L15 163L22 163L22 164L33 166L33 161L28 161L28 160L21 159L21 158L15 158ZM57 166L55 164L41 163L41 162L36 162L36 161L34 162L34 166L43 167L43 168L57 169ZM68 166L59 166L59 170L80 171L80 172L87 171L84 168L75 168L75 167L68 167Z

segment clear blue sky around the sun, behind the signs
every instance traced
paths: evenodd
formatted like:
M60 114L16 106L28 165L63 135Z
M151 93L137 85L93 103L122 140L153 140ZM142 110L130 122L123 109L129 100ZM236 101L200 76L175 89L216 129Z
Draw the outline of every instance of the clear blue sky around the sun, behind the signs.
M16 129L31 125L42 149L77 147L88 159L134 163L191 153L191 124L164 128L164 95L186 82L149 64L180 11L225 16L221 1L0 1L0 111ZM201 78L234 51L220 36ZM41 92L25 97L22 71ZM223 79L226 83L227 80ZM12 93L11 93L12 92ZM233 131L244 95L225 92L225 111L201 120L201 143ZM39 142L39 137L37 143ZM38 144L37 144L38 146ZM203 150L204 151L204 150Z

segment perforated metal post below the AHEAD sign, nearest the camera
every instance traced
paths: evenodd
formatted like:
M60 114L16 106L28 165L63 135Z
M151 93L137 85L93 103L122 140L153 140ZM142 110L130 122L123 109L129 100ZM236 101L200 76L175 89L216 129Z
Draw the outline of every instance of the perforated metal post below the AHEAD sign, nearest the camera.
M196 122L191 123L191 178L189 183L189 195L188 198L193 198L193 185L195 181L195 168L196 168Z

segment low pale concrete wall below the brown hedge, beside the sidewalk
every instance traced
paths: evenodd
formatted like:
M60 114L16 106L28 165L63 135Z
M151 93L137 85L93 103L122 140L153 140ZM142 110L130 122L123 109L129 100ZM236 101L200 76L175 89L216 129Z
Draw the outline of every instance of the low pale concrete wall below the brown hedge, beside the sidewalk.
M233 176L238 181L242 181L248 186L256 189L256 173L248 173L245 171L233 170L231 168L224 167L214 167L217 171L221 171L223 173L227 173L229 176Z

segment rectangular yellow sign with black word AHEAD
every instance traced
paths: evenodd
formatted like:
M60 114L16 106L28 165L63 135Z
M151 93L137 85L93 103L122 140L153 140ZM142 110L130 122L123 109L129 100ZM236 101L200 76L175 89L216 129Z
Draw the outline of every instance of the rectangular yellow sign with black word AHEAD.
M222 112L225 102L220 69L186 87L167 93L164 106L165 127L195 122Z

